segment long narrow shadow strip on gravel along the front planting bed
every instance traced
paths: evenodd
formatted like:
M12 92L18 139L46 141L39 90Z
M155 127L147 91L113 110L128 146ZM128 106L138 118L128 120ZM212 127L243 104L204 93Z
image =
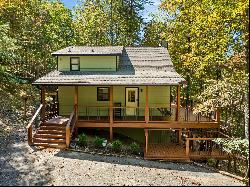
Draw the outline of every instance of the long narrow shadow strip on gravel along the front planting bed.
M192 163L180 163L180 162L170 162L170 161L150 161L136 158L128 157L115 157L115 156L106 156L98 154L89 154L76 151L64 151L60 150L54 156L78 159L78 160L88 160L95 162L106 162L118 165L131 165L147 168L158 168L158 169L168 169L168 170L179 170L179 171L191 171L191 172L206 172L214 173L214 171L207 170L202 167L193 165Z

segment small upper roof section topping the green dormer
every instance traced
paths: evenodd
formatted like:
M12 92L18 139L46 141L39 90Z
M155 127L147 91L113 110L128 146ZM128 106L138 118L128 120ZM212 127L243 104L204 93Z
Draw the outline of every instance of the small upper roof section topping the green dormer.
M122 49L122 46L69 46L52 55L121 55Z

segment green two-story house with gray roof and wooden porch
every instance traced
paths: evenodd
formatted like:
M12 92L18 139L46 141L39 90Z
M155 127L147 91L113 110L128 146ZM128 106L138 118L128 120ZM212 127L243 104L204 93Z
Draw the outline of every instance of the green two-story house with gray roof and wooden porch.
M107 129L110 140L114 131L129 136L130 129L143 132L143 139L137 139L145 145L145 158L187 159L192 144L187 148L185 141L192 138L192 129L219 128L219 115L208 118L181 107L185 80L164 47L70 46L52 55L57 69L33 83L41 89L41 105L33 121L40 115L41 124L35 133L32 120L28 125L30 144L65 148L78 128ZM56 109L46 108L51 87L57 89ZM54 115L47 115L50 112ZM177 141L163 146L163 139ZM171 151L177 147L173 157Z

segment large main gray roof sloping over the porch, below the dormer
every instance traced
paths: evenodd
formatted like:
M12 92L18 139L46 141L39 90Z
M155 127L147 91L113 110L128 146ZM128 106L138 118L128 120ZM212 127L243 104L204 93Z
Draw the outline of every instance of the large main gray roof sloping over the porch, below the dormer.
M185 82L163 47L124 47L115 72L53 71L34 84L46 85L178 85Z

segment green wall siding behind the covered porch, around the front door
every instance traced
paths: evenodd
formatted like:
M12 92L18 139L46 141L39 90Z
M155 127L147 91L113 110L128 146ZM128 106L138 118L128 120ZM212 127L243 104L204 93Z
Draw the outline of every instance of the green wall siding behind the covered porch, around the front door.
M113 100L120 102L121 106L125 106L125 88L127 86L114 86L113 87ZM131 87L131 86L129 86ZM145 86L139 87L139 107L145 107ZM74 105L74 86L59 86L59 114L70 115ZM149 86L149 106L170 106L170 86ZM78 87L78 105L79 113L85 114L86 109L84 106L106 106L101 110L101 115L108 115L109 101L97 101L97 87L96 86L79 86ZM93 108L90 116L97 115L96 108ZM144 115L144 108L140 110L140 116ZM155 111L154 115L160 115Z

